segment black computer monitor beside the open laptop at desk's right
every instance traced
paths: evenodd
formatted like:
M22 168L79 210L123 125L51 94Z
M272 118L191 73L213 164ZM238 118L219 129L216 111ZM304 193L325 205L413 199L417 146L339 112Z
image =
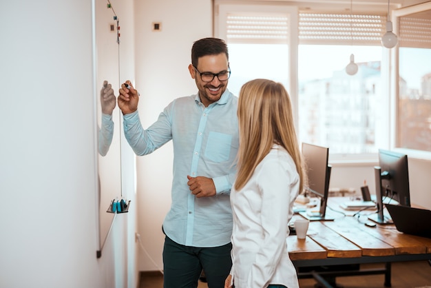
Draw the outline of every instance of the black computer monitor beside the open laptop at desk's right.
M383 202L410 207L407 155L379 149L379 166L374 169L377 214L368 218L380 224L392 223L383 215Z

